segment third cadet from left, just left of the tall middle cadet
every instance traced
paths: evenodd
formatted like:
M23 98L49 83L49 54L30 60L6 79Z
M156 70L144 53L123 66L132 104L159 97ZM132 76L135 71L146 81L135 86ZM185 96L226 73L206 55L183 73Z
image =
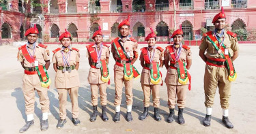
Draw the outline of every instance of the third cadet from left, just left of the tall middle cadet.
M95 44L86 46L88 61L91 68L89 69L88 82L91 84L91 104L94 113L90 121L94 122L98 116L98 90L100 90L100 104L102 105L102 120L109 120L106 116L106 87L109 82L109 46L102 44L102 31L99 30L92 36Z

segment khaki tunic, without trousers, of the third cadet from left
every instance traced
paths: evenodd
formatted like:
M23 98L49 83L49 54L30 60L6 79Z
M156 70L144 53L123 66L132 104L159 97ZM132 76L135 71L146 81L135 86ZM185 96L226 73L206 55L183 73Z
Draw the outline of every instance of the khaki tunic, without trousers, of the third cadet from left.
M95 46L92 46L95 49ZM100 47L97 47L98 50L100 50ZM102 52L101 52L101 60L104 60L106 58L109 58L109 47L102 46ZM89 52L87 51L87 56L89 56ZM101 80L101 70L96 68L90 68L89 69L89 75L88 75L88 82L89 84L102 84L105 82L102 82Z

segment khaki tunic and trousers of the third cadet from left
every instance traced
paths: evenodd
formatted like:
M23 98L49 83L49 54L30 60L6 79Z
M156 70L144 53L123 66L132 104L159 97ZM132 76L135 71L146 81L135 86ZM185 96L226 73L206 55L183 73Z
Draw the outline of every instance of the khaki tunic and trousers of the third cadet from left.
M92 46L95 49L95 46ZM100 50L100 48L97 48ZM109 58L109 48L102 46L101 60ZM89 53L87 52L87 56ZM100 105L106 105L107 83L101 80L101 70L91 67L89 69L88 82L91 84L91 104L98 105L98 89L100 89Z

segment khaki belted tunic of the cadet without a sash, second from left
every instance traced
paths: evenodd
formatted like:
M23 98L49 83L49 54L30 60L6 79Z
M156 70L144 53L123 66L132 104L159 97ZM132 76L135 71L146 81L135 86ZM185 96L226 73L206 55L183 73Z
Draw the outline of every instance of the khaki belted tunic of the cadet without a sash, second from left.
M63 51L63 48L53 54L53 63L57 64L57 66L63 66L63 58L61 51ZM66 52L63 52L63 54L66 56ZM70 62L70 65L76 65L76 62L80 61L80 54L76 50L70 49L70 57L68 57L68 62ZM73 88L80 85L79 81L79 73L76 69L72 70L70 73L68 71L65 71L65 73L62 73L61 70L57 70L56 76L55 76L55 86L56 88Z

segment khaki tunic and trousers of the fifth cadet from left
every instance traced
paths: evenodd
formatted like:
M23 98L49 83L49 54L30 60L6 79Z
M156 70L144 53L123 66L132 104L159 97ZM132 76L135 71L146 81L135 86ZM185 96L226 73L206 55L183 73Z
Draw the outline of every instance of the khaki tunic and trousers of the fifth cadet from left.
M152 54L154 53L154 50L150 52L150 57L152 57ZM141 52L140 61L144 61L143 53ZM154 53L154 58L152 62L158 62L164 61L164 52L161 52L160 50L155 48L155 53ZM151 78L151 73L150 70L143 68L142 73L141 73L141 87L144 93L144 107L149 107L150 106L150 94L152 91L152 97L153 97L153 106L154 107L159 107L160 105L160 97L159 97L159 88L160 84L162 84L162 80L159 82L159 84L152 84L150 82Z

